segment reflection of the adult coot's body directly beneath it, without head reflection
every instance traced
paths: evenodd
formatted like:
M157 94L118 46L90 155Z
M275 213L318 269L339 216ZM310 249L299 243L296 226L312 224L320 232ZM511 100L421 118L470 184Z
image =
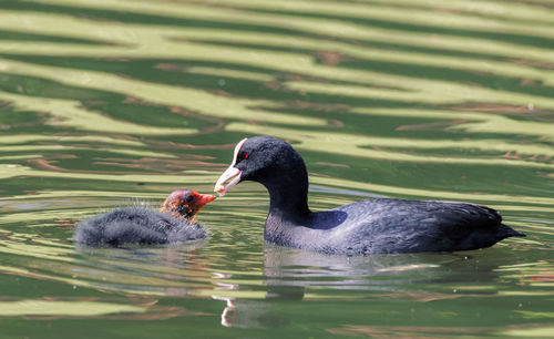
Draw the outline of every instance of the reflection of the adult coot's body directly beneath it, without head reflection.
M268 294L274 287L318 287L341 290L398 289L399 285L494 282L497 268L517 263L510 248L473 253L419 253L347 257L266 245L264 276ZM386 278L384 278L386 277ZM295 298L293 289L284 298Z

